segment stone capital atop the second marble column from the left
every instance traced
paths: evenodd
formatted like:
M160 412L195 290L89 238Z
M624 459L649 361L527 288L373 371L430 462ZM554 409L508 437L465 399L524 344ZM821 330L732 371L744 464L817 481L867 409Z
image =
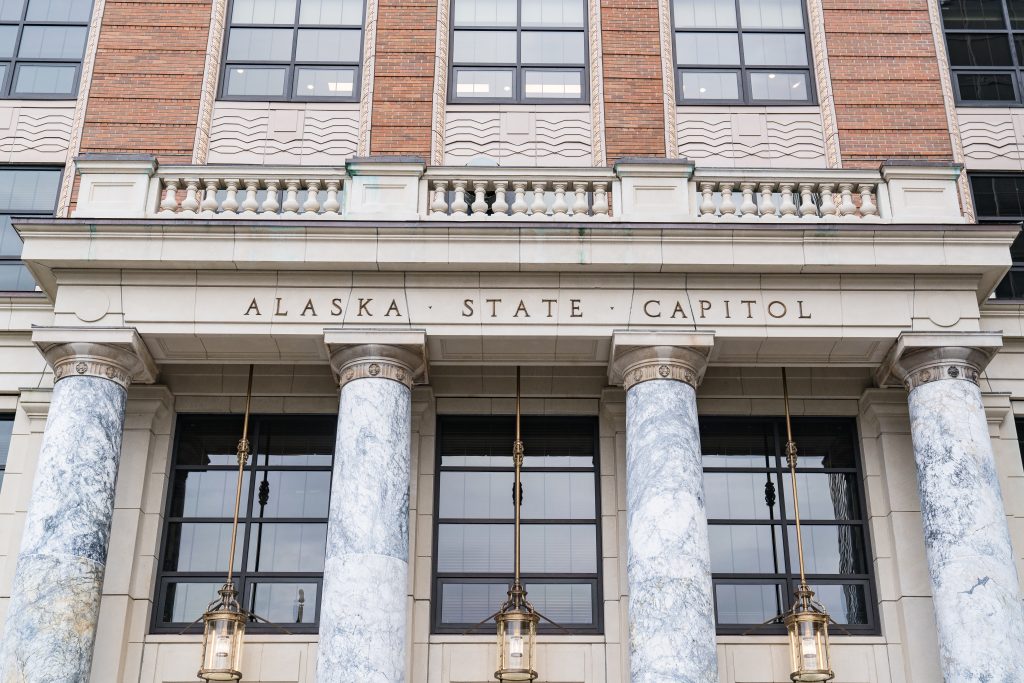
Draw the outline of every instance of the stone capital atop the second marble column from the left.
M325 330L331 371L339 386L377 377L412 388L427 379L427 336L422 330Z

